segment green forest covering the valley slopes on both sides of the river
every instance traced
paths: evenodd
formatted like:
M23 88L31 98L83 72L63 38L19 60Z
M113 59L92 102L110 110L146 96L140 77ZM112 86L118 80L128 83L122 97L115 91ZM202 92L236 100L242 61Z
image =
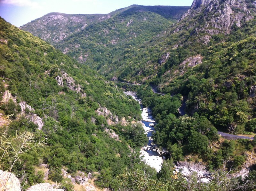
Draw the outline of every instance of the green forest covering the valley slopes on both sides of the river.
M1 18L1 169L16 172L22 190L43 182L77 190L63 171L92 173L94 186L109 190L255 190L255 3L194 0L187 8L79 15L90 24L58 42L51 36L52 45L39 37L58 28L42 26L35 37ZM140 105L124 90L152 111L153 141L166 156L159 172L140 155L148 144ZM182 162L204 165L211 180L174 171Z

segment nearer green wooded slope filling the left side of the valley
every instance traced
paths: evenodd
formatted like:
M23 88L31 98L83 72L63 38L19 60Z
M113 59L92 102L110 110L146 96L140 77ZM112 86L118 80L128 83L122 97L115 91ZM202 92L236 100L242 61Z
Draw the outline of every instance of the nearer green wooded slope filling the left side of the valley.
M72 177L77 170L96 171L98 186L115 188L116 176L124 168L144 165L132 150L146 144L146 135L141 125L127 122L140 119L135 100L2 18L0 31L0 166L17 173L23 190L45 181L41 163L49 169L47 181L58 181L65 190L73 185L61 175L63 168ZM7 115L11 121L4 121ZM25 143L16 153L25 138L12 138L23 133L36 142L44 140L45 147L23 153L33 142Z

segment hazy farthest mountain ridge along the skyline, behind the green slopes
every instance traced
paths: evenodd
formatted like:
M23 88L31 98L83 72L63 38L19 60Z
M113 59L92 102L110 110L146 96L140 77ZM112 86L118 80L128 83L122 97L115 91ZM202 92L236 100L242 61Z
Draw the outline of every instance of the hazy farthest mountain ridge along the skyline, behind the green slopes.
M21 26L20 29L31 32L51 44L56 44L89 25L108 20L122 12L155 12L166 19L177 20L188 8L131 5L108 14L64 14L52 12Z

